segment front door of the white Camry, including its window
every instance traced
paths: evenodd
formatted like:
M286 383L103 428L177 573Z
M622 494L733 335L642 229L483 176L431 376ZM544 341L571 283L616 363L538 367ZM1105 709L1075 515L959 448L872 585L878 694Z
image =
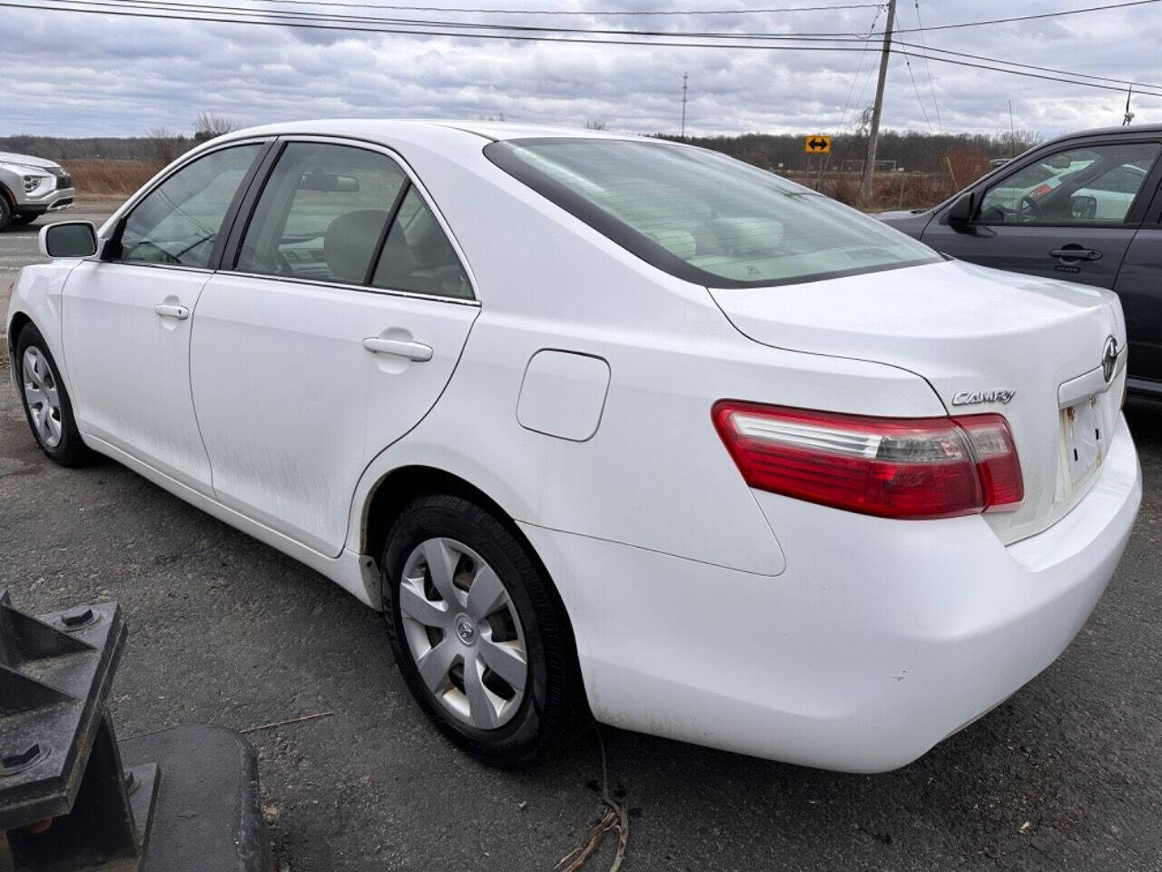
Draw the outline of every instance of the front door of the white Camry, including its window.
M83 262L63 293L80 429L206 494L210 467L189 392L189 314L266 145L222 148L170 174L119 222L105 259Z

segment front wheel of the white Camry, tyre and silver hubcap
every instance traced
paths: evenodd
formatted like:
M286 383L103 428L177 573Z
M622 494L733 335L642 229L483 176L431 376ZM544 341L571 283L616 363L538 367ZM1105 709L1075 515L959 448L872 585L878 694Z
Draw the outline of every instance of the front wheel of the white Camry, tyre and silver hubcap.
M16 380L33 438L50 460L77 466L92 457L73 419L69 392L49 345L33 324L16 337Z

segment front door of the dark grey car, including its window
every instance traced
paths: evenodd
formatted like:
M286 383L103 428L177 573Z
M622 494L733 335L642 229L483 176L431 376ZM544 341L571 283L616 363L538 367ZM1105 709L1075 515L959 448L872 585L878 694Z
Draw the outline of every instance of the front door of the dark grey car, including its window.
M984 266L1112 288L1149 201L1159 151L1153 141L1114 141L1031 156L971 192L967 224L949 223L945 210L921 238Z

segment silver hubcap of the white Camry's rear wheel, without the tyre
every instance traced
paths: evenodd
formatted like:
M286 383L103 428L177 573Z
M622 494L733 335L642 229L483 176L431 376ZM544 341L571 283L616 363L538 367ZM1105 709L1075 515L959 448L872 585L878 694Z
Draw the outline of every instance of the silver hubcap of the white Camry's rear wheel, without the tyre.
M481 730L507 723L529 678L524 630L492 566L456 539L421 543L403 564L400 613L428 689Z

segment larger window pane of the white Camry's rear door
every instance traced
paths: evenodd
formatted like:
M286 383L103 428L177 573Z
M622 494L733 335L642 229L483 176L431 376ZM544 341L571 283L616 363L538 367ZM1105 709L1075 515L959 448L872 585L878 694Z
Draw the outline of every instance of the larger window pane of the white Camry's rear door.
M365 284L406 183L403 170L386 155L289 143L254 207L237 269Z

